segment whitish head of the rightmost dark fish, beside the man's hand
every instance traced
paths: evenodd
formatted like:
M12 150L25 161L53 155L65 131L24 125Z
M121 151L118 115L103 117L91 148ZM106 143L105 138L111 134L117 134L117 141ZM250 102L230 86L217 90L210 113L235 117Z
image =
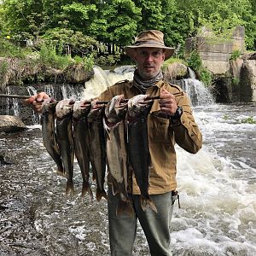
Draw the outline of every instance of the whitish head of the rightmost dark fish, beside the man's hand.
M140 94L132 97L128 101L128 115L130 117L139 117L149 112L152 107L153 100L148 99L148 95Z

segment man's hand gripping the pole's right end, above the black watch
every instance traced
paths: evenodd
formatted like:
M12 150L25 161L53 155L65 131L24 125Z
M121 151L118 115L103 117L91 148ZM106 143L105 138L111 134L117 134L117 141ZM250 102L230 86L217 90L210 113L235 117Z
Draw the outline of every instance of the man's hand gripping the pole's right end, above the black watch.
M174 115L177 110L177 102L175 96L172 95L168 90L160 90L160 108L161 112L167 113L168 115Z

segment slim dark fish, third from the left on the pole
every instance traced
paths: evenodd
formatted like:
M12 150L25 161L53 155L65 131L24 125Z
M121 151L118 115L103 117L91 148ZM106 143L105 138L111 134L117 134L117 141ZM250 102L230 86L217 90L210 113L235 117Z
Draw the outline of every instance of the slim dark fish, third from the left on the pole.
M83 197L87 192L91 200L93 194L90 189L90 148L89 148L89 127L87 116L90 113L90 102L76 101L73 105L73 137L74 152L78 160L79 167L83 178L82 194Z

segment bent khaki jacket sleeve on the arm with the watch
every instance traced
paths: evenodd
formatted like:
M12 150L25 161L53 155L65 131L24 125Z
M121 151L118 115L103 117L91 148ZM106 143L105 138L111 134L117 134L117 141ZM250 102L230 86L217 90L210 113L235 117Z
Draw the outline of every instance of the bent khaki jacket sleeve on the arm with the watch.
M183 114L177 124L172 124L170 120L170 128L174 132L176 143L189 153L195 154L201 149L202 136L198 125L195 123L188 96L178 97L177 105L183 108Z

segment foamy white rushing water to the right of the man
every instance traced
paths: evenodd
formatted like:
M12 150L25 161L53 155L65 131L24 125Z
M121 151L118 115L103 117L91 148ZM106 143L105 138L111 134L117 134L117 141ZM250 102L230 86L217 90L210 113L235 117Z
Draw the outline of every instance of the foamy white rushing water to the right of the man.
M241 123L254 111L228 105L195 109L204 145L197 154L177 147L177 255L256 254L256 125Z

